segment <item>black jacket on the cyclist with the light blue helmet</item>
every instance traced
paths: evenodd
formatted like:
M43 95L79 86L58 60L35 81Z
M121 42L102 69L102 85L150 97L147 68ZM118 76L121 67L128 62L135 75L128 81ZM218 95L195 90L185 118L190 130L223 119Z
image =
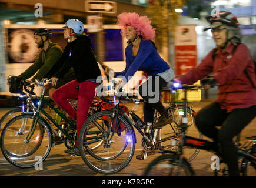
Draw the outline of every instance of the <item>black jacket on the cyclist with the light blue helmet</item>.
M78 36L77 39L68 43L62 53L59 62L64 62L61 69L54 77L61 78L72 67L75 78L79 83L85 80L95 80L101 76L98 63L91 49L91 40L86 35Z

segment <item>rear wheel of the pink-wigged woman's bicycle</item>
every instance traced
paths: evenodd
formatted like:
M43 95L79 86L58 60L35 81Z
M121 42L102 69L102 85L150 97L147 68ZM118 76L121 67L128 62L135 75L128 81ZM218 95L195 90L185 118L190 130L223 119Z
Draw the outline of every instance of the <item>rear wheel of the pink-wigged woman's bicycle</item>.
M178 141L178 136L180 135L178 125L181 123L182 116L184 116L184 110L183 106L179 104L170 106L168 110L174 121L158 130L158 141L166 139L164 142L159 142L159 149L177 151L178 142L177 145L171 146L170 140ZM195 112L190 107L187 108L187 117L189 127L187 128L186 134L188 136L202 139L202 133L198 132L197 127L195 126ZM199 152L200 149L183 147L183 154L187 158L188 162L195 159Z

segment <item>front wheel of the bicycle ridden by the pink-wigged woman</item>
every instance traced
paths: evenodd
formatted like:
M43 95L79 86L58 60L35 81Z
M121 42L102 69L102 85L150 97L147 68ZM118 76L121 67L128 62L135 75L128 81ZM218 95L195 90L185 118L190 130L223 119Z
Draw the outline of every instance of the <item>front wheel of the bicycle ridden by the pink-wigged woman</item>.
M101 174L117 173L124 169L135 150L131 125L118 115L117 126L123 123L126 128L121 133L114 132L113 113L111 110L95 113L87 119L79 133L82 159L92 170Z

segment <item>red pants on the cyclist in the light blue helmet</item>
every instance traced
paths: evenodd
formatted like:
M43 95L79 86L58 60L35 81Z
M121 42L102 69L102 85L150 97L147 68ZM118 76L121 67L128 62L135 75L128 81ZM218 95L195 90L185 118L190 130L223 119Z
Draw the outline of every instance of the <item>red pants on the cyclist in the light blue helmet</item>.
M75 89L78 85L79 89ZM52 99L54 99L56 104L64 109L72 119L77 119L77 142L75 143L77 146L80 129L85 120L87 120L88 109L94 100L96 86L97 83L95 82L84 81L78 83L77 80L72 80L55 90L52 94ZM75 98L78 98L77 112L67 100Z

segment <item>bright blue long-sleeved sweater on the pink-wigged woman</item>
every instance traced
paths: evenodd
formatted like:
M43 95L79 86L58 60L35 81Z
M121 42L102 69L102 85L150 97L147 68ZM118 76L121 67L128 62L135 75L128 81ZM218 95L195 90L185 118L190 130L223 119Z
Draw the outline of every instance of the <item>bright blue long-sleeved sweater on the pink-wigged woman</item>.
M126 82L128 82L128 76L133 76L137 70L144 71L148 76L155 76L170 69L168 63L159 56L151 41L142 39L136 56L132 56L132 46L131 44L125 48L125 70L116 72L115 77L125 76Z

